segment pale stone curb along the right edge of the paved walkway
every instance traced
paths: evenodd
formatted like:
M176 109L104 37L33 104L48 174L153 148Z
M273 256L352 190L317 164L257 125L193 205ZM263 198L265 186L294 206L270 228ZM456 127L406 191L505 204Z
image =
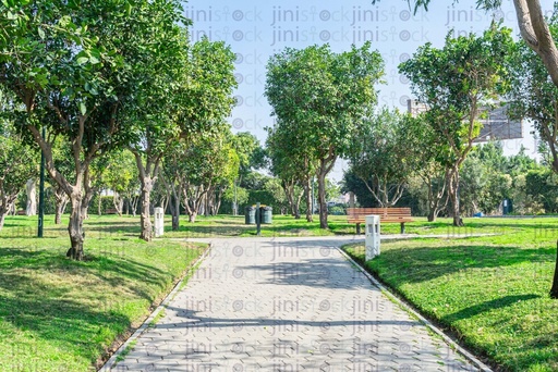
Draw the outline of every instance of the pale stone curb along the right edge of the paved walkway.
M410 312L414 317L416 317L424 325L426 325L430 331L440 336L446 344L448 344L451 348L453 348L457 352L462 355L468 361L475 364L480 371L482 372L494 372L488 365L478 360L475 356L473 356L470 351L468 351L462 346L458 345L451 337L446 335L441 330L439 330L436 325L430 323L426 318L416 312L413 308L411 308L405 301L401 298L397 297L391 293L390 289L386 288L381 283L379 283L374 276L371 275L359 262L354 261L349 255L347 255L341 247L337 247L337 250L341 252L351 263L353 263L359 270L372 282L373 285L378 287L383 294L389 297L390 300L400 306L404 311Z

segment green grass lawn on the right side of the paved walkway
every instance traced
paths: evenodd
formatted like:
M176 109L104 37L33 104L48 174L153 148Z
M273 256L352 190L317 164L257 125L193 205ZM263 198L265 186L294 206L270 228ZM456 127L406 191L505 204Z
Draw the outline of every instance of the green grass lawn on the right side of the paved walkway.
M471 219L468 228L500 235L385 240L365 266L499 369L558 371L558 300L548 297L558 219ZM362 245L345 250L363 262Z

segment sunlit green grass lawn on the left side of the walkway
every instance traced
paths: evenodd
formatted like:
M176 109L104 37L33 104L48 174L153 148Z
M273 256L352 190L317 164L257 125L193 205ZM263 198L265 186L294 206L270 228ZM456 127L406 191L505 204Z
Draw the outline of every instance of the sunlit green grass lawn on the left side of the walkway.
M0 232L0 371L90 371L205 247L140 240L138 219L86 220L83 262L65 258L68 220L8 216Z

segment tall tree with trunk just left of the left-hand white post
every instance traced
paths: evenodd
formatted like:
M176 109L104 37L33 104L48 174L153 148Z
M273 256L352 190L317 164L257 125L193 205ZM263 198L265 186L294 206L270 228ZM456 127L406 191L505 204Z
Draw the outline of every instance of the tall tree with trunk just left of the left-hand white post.
M128 144L134 154L141 184L141 238L153 238L150 221L151 190L154 189L162 158L170 144L180 135L175 111L181 92L189 78L189 39L179 23L185 22L180 15L178 2L154 2L151 22L157 25L148 45L138 33L132 36L131 48L142 48L145 58L137 61L136 71L144 76L142 89L134 100L123 107L124 116L133 137ZM134 52L135 53L135 52ZM149 78L145 78L148 76Z

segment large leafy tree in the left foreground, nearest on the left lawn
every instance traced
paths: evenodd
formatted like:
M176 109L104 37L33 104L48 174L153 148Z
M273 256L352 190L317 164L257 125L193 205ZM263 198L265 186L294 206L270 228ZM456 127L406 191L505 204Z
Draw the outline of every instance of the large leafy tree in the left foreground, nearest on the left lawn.
M70 198L68 255L81 260L83 219L94 193L90 165L130 141L122 109L141 96L146 60L168 47L168 28L182 20L180 3L21 1L2 2L0 12L8 14L0 20L1 84L25 107L20 129L39 145L50 177ZM53 161L59 136L71 144L72 175Z

